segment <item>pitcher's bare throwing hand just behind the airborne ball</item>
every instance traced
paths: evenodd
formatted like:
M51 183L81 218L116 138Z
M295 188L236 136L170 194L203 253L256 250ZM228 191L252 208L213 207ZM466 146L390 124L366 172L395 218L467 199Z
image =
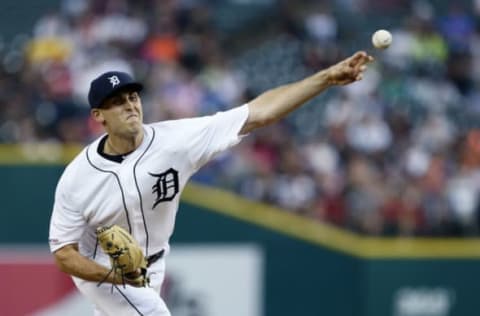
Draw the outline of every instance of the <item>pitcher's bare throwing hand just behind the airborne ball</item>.
M362 80L367 64L374 58L364 51L356 52L352 56L326 69L327 80L330 85L346 85Z

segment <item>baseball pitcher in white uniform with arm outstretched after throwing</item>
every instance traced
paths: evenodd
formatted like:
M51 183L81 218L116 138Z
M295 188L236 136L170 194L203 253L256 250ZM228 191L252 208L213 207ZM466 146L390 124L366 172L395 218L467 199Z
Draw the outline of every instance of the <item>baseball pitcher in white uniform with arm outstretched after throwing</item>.
M365 52L211 116L143 123L142 84L111 71L91 82L93 119L106 133L66 167L55 192L49 244L56 264L95 315L170 312L160 297L179 198L217 153L325 89L362 79Z

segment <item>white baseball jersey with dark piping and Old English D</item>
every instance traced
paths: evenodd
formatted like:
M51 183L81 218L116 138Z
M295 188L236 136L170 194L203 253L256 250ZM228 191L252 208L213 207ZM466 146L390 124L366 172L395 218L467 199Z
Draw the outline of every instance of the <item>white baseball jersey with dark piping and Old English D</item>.
M98 153L101 138L91 143L57 185L50 250L78 243L82 255L105 265L108 258L96 247L95 230L117 224L130 231L146 256L168 251L187 180L240 141L247 117L243 105L212 116L146 124L142 144L121 163Z

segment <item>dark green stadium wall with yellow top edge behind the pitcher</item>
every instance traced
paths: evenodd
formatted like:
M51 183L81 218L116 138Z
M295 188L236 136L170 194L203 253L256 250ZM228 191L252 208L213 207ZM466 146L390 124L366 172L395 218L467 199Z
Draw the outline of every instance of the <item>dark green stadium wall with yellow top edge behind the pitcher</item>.
M0 244L46 247L63 165L17 162L0 166ZM478 239L362 237L192 184L182 196L172 245L196 243L260 246L267 316L473 316L480 310Z

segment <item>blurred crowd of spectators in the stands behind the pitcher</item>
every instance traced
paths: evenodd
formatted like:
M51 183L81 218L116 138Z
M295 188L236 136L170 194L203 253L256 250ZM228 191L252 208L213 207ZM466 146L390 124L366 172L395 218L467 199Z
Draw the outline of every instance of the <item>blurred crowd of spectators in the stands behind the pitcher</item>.
M235 33L216 16L229 2L253 7ZM479 23L480 1L63 0L0 45L0 142L98 137L86 93L103 71L142 80L154 122L241 105L367 49L364 80L252 133L195 180L369 235L478 235ZM383 27L394 42L373 51Z

